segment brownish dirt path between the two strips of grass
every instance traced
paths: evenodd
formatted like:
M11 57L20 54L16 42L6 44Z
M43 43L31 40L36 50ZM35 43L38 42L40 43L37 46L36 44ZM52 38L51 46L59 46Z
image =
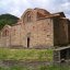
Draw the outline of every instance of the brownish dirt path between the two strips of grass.
M50 62L47 61L18 61L18 60L0 60L0 66L27 66L27 67L36 67L36 66L47 66Z

